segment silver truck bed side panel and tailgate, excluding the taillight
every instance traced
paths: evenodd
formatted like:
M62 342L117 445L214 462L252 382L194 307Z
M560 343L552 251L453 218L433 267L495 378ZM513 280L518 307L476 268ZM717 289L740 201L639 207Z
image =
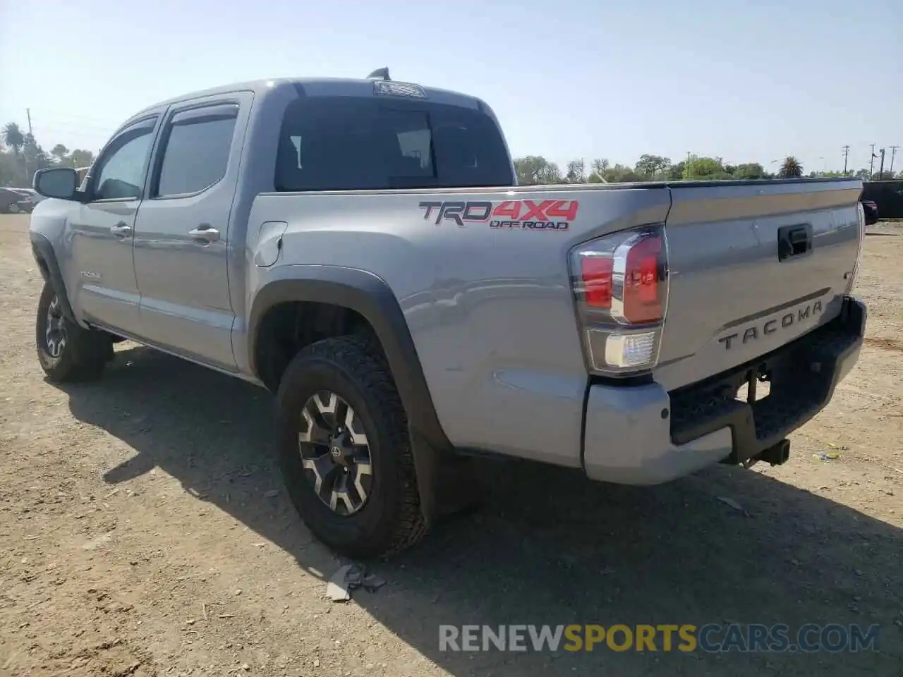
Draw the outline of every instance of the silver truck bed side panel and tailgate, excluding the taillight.
M454 446L579 466L594 381L575 320L574 246L665 224L668 294L652 376L667 392L840 312L861 243L860 192L855 180L283 192L258 196L250 223L286 224L286 261L357 268L386 282ZM564 225L525 227L479 208L511 213L515 202L525 212L526 202L545 205L547 222ZM469 218L443 214L449 204ZM565 216L551 217L551 205ZM778 260L779 232L800 227L808 251ZM252 252L256 236L249 231ZM254 284L269 275L256 274Z

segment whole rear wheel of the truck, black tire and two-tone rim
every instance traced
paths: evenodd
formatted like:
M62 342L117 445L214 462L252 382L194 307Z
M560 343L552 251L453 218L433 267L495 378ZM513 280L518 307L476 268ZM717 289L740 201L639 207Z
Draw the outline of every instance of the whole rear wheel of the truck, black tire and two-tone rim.
M343 336L304 348L276 399L285 487L314 536L368 558L424 535L405 409L372 343Z

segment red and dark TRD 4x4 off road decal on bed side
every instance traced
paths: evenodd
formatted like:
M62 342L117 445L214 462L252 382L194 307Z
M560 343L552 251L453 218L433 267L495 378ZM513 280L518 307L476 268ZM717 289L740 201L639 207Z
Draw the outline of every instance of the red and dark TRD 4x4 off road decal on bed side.
M488 201L421 202L424 219L435 217L434 225L448 220L465 227L468 223L485 223L490 228L520 230L567 230L577 218L579 203L575 199L507 199L494 204Z

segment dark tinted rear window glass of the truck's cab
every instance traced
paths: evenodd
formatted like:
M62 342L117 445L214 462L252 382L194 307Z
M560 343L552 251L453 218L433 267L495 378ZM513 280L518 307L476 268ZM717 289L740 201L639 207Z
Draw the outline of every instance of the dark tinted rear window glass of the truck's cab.
M498 126L475 109L312 97L285 111L276 190L465 188L512 181Z

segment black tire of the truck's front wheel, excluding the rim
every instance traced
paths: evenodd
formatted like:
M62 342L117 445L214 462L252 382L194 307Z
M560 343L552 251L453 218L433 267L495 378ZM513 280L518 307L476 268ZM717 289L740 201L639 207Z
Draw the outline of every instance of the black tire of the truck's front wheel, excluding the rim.
M44 283L41 299L38 301L35 318L35 342L38 360L44 374L51 383L89 381L100 376L104 366L113 357L113 344L109 335L102 331L85 329L76 322L61 315L60 322L65 330L65 345L59 356L51 354L47 341L48 311L56 301L57 293L51 283Z

